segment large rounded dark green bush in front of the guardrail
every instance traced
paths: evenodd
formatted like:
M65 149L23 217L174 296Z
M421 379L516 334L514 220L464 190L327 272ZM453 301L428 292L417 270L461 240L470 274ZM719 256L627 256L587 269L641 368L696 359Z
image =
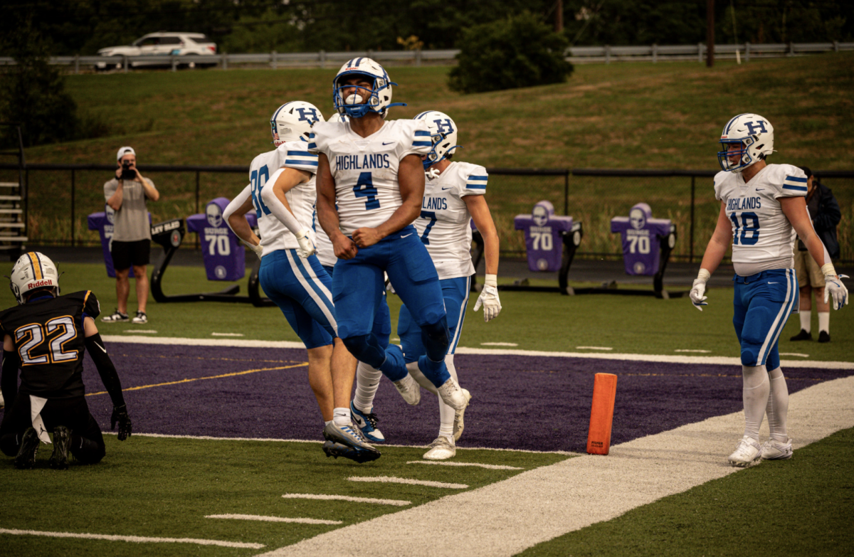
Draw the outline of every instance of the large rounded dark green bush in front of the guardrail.
M563 83L573 69L564 56L568 45L529 12L469 27L461 33L459 65L448 86L476 93Z

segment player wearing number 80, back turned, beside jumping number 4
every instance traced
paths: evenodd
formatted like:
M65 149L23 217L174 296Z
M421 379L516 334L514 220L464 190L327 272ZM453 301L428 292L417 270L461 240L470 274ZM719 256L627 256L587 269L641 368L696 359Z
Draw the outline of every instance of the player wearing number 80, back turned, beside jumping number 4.
M225 209L231 230L261 258L261 288L282 310L308 350L308 382L325 421L327 456L357 462L380 454L352 424L353 356L338 338L331 279L314 255L313 213L317 155L307 151L323 114L310 103L279 107L270 120L276 149L254 158L250 184ZM260 240L244 214L254 210Z

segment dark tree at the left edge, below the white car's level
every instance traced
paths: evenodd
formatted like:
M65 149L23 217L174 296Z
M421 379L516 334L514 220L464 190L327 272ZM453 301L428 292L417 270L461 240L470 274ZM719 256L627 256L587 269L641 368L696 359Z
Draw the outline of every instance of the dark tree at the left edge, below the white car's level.
M16 65L0 85L0 120L21 126L24 145L56 143L79 133L77 103L59 71L48 64L48 47L27 18L5 37ZM15 138L4 138L7 144Z

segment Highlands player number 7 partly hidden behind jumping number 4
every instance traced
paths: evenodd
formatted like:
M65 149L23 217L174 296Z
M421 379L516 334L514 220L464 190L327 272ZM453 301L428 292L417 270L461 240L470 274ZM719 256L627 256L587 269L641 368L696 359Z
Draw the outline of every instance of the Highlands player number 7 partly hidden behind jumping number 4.
M448 331L451 346L445 356L447 371L454 381L458 381L453 366L453 353L462 333L465 309L468 307L471 275L475 267L471 263L471 220L483 235L484 255L486 258L486 280L475 310L483 306L483 320L489 321L498 316L501 302L498 296L496 275L498 273L499 240L492 215L489 213L484 195L486 194L486 168L468 162L451 161L457 144L458 128L456 123L442 112L430 110L418 114L415 120L423 120L430 130L432 149L424 155L424 172L427 183L424 185L424 200L421 202L421 214L415 220L415 229L421 243L427 248L436 272L445 300ZM430 392L437 393L436 387L418 370L418 357L424 355L424 345L418 325L412 320L407 306L401 307L397 322L397 333L401 337L407 368L418 384ZM465 396L469 392L464 390ZM464 422L463 410L454 411L439 397L439 435L430 444L430 450L424 454L427 460L446 460L456 454L456 441L462 435Z

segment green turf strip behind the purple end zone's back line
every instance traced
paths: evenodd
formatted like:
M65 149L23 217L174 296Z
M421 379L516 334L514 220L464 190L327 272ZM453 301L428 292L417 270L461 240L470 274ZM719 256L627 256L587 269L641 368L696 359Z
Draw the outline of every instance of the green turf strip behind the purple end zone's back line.
M102 314L115 307L115 281L102 265L60 265L63 292L93 290L101 302ZM164 279L167 294L221 290L231 283L211 282L202 267L169 267ZM512 278L506 278L512 280ZM246 292L247 279L242 284ZM687 286L685 288L687 290ZM465 328L460 347L524 349L563 352L605 351L578 349L580 346L611 348L607 352L659 355L708 355L738 357L740 351L732 325L733 290L711 289L709 305L697 311L687 298L658 300L653 296L611 296L605 294L559 296L557 293L501 292L501 314L483 322L483 310L473 311L477 295L469 298ZM135 311L136 295L131 294L130 311ZM392 319L392 338L397 331L400 298L388 296ZM0 306L15 303L9 290L0 290ZM158 303L149 298L149 322L107 324L98 322L102 334L130 335L134 331L147 337L223 338L212 333L240 333L242 339L299 341L278 308L254 308L249 303L184 302ZM789 342L799 331L797 316L789 318L781 333L784 360L854 361L854 312L851 308L834 311L831 318L833 342ZM515 343L517 346L483 345ZM676 350L708 350L683 353Z

